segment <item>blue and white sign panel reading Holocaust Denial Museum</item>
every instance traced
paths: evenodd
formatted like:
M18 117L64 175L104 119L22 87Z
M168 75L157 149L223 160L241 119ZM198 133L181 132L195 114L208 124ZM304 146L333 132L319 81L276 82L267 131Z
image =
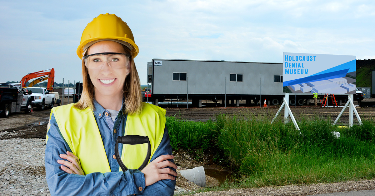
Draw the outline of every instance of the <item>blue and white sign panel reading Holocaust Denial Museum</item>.
M356 94L356 56L283 53L285 93Z

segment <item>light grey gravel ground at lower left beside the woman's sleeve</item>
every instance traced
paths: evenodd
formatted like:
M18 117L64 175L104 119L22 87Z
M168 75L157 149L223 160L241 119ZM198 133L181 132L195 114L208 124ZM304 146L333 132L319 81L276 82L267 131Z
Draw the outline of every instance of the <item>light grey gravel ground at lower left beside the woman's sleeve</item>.
M50 195L43 139L0 140L0 195Z

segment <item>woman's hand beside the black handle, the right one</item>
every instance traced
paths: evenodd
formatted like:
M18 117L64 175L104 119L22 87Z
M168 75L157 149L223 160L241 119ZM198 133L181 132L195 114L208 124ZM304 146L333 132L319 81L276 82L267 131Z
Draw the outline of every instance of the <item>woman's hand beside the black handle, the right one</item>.
M172 167L177 169L177 166L170 162L166 161L168 159L173 159L173 155L161 155L158 158L154 159L154 161L150 162L146 165L145 168L142 169L141 172L144 174L144 180L146 182L146 186L149 186L153 183L156 183L159 180L175 180L176 178L173 176L177 176L177 173L172 169L166 167ZM173 176L171 176L171 175Z

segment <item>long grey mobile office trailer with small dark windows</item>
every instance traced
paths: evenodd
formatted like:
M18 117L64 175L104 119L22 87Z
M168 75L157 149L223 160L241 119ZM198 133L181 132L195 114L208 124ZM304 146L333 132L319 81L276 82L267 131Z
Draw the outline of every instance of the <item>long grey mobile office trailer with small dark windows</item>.
M261 96L277 105L284 97L282 68L282 63L152 59L147 78L154 104L188 97L194 106L201 106L201 100L225 99L239 105L238 100L257 103Z

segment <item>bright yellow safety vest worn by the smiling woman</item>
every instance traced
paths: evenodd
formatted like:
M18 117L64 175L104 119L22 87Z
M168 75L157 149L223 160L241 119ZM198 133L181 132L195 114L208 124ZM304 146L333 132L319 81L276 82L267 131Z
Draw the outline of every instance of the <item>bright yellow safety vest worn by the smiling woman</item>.
M142 103L140 115L127 116L124 136L148 136L152 157L163 138L165 112L165 109L158 106ZM72 153L80 159L84 173L111 172L93 111L90 108L80 110L69 104L52 108L51 115L52 113ZM124 145L121 153L124 165L129 169L138 169L146 157L147 147L147 143Z

